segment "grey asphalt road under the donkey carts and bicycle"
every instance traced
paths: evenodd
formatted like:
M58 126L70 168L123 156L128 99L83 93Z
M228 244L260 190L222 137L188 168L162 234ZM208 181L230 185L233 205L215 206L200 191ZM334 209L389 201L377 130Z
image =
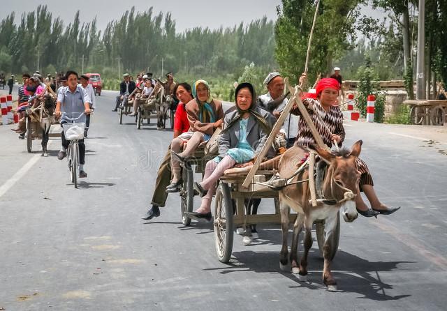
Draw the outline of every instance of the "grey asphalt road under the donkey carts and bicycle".
M43 158L40 142L27 153L0 126L0 310L446 310L447 128L346 123L346 144L364 141L379 197L402 209L342 223L332 293L316 243L309 283L279 271L277 225L259 226L255 245L235 236L221 264L212 225L184 227L178 195L141 220L173 133L137 130L131 117L119 126L114 98L96 98L78 190L58 138ZM263 200L261 212L271 210Z

